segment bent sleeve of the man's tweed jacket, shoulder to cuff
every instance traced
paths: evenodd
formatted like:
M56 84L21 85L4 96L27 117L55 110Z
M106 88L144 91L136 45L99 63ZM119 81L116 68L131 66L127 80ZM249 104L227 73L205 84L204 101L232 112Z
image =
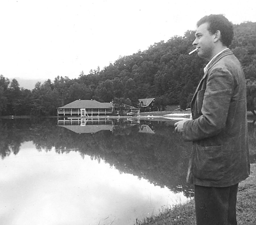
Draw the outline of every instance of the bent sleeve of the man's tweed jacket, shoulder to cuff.
M232 74L225 68L214 68L207 78L202 115L184 123L184 140L197 141L213 137L225 128L233 92Z

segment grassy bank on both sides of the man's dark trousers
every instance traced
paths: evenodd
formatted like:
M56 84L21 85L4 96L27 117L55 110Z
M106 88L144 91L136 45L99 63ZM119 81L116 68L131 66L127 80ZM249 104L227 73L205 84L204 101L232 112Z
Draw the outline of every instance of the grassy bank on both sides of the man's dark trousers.
M238 224L256 224L256 165L251 164L251 174L240 182L237 195ZM137 221L135 225L195 225L195 206L192 199L184 205L165 209L158 216Z

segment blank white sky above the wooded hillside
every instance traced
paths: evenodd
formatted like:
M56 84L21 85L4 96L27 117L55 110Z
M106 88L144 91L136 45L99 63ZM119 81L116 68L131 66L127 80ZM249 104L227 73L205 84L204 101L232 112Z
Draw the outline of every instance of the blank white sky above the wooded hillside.
M256 22L256 2L0 0L0 74L77 78L220 13L234 24Z

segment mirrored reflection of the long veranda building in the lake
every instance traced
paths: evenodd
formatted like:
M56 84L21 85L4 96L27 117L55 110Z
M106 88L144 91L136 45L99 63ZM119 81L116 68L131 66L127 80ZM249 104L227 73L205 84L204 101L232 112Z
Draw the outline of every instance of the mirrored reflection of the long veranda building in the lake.
M113 122L108 119L74 118L58 120L58 126L75 133L96 133L101 130L113 130Z

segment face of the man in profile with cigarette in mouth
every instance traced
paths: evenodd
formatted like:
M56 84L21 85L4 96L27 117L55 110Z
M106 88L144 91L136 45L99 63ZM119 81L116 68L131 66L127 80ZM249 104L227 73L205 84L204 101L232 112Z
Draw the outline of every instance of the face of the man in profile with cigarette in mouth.
M208 31L208 23L201 24L195 33L193 45L198 47L197 54L199 57L211 60L214 56L214 38L215 34Z

